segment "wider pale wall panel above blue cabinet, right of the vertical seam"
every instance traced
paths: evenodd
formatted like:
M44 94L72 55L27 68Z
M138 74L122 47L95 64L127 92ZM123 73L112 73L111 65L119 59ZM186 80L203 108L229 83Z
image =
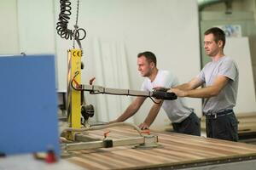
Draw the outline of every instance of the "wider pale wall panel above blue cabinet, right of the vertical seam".
M52 0L18 0L20 52L55 54Z

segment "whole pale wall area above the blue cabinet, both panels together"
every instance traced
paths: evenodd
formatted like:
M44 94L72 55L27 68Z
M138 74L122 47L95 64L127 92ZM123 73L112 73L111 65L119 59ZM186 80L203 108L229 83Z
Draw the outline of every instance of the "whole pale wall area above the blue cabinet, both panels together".
M53 0L2 0L1 54L55 54Z

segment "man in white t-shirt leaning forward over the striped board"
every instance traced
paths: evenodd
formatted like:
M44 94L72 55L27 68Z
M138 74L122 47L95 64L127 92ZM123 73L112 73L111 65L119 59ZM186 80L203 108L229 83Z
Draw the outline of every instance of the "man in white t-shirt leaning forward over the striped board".
M153 88L173 88L178 85L177 77L170 71L161 71L156 67L156 57L151 52L143 52L137 55L138 71L143 77L146 77L142 90L152 91ZM129 117L133 116L143 105L145 97L137 97L125 112L112 122L124 122ZM155 99L154 105L148 113L145 121L139 125L141 129L147 129L153 122L160 111L160 107L166 111L167 116L172 121L172 127L176 133L186 133L192 135L201 135L200 120L190 109L185 99L177 98L175 100L158 100ZM110 122L110 123L112 123Z

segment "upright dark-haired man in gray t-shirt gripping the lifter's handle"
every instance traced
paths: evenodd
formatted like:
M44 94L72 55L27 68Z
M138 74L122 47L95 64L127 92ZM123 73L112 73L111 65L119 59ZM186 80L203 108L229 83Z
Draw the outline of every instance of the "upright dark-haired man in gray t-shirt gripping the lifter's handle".
M190 82L171 88L179 97L204 98L203 112L207 117L207 137L238 140L236 105L239 71L236 62L224 55L224 31L217 27L205 32L204 47L212 58L200 74ZM199 88L205 84L204 88Z

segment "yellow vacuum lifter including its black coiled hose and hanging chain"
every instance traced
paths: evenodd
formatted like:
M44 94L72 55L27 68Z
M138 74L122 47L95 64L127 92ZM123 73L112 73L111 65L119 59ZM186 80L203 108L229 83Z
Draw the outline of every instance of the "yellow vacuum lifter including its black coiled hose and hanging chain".
M157 89L153 92L137 91L130 89L119 88L104 88L95 85L81 84L81 70L84 68L81 58L83 50L81 40L86 37L86 31L78 26L79 17L79 0L77 1L76 25L74 30L67 29L67 23L71 15L71 3L69 0L61 0L61 14L59 14L59 22L57 22L57 32L62 38L73 39L73 48L67 50L67 121L68 126L63 132L64 136L73 143L66 143L62 145L63 150L84 150L95 149L101 147L113 147L126 144L140 144L142 147L157 146L157 136L153 134L144 134L136 125L127 122L118 122L113 124L106 124L101 126L90 126L88 119L94 116L94 108L92 105L86 105L84 102L84 91L90 94L114 94L114 95L129 95L142 96L150 99L177 99L173 93L167 93L167 89ZM75 42L79 44L79 48L75 48ZM154 99L152 99L154 101ZM81 117L84 117L84 122L81 122ZM104 139L96 140L90 139L86 133L91 130L104 129L113 126L130 126L137 130L139 136L133 139Z

